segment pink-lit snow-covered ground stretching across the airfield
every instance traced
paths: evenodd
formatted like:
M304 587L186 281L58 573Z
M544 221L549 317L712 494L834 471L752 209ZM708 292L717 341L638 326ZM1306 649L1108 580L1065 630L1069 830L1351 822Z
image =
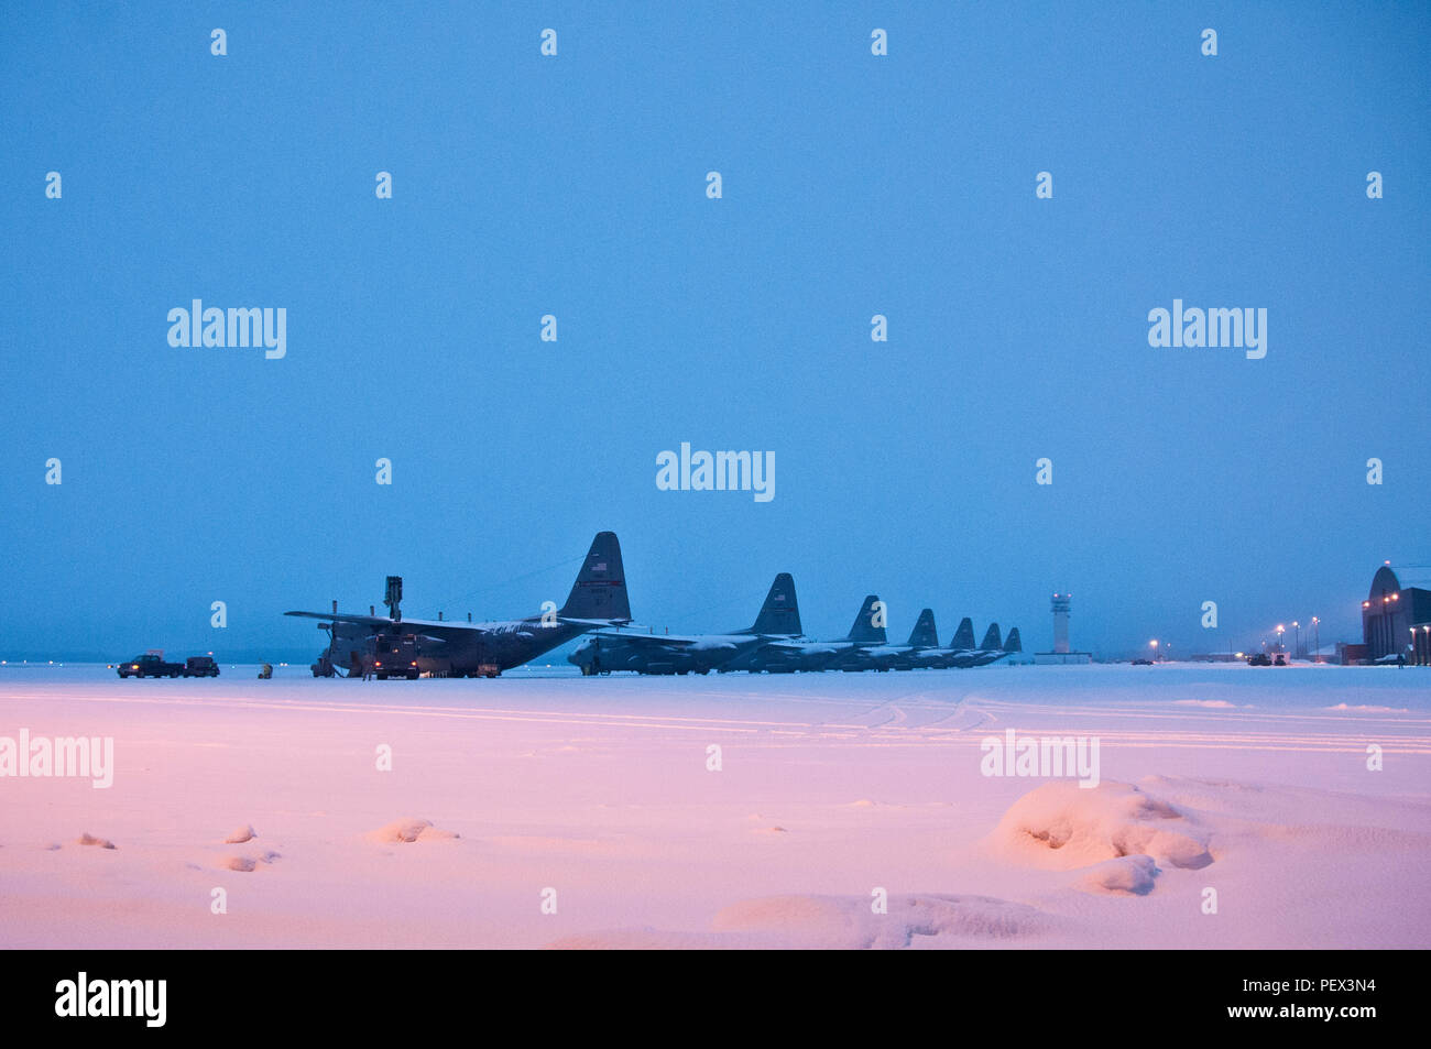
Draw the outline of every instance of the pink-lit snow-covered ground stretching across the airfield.
M1099 786L985 776L1009 728ZM1417 668L0 667L21 730L114 769L0 779L9 947L1431 946Z

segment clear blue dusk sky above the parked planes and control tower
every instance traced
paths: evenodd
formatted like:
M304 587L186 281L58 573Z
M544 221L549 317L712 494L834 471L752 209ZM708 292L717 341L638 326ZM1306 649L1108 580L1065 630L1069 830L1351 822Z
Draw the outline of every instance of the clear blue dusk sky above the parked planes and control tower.
M282 613L386 574L537 614L600 530L657 628L790 571L821 637L1359 640L1431 562L1428 11L7 6L0 655L316 653ZM286 355L172 346L193 299ZM1175 299L1265 358L1151 346ZM658 489L681 442L774 498Z

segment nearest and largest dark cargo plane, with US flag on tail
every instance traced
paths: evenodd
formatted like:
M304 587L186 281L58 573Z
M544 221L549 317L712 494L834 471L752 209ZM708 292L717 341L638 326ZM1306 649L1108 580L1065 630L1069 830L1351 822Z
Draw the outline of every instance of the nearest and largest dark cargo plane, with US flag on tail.
M326 655L315 664L315 674L326 665L328 673L343 667L348 677L353 677L362 673L365 663L371 663L373 675L379 678L414 678L422 673L497 677L590 630L631 621L621 544L615 532L598 532L591 541L567 602L537 615L495 623L404 620L398 605L401 595L402 580L389 577L385 604L391 615L308 611L285 615L323 620L321 625L329 630L332 643Z

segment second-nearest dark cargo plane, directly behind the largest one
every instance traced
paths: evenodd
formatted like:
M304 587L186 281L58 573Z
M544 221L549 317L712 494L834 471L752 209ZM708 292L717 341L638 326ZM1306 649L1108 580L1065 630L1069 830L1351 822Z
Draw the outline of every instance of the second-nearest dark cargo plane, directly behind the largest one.
M587 635L570 663L584 675L634 670L638 674L708 674L743 653L774 640L800 637L796 581L780 572L770 584L756 621L728 634L638 634L631 630L598 630Z

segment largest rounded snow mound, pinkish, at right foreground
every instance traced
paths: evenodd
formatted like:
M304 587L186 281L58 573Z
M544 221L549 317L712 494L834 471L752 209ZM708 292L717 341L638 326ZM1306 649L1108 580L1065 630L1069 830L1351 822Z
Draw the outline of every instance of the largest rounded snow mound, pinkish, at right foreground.
M1073 870L1123 856L1149 856L1198 870L1212 863L1206 831L1130 783L1092 790L1046 783L1005 813L990 844L1029 866Z

